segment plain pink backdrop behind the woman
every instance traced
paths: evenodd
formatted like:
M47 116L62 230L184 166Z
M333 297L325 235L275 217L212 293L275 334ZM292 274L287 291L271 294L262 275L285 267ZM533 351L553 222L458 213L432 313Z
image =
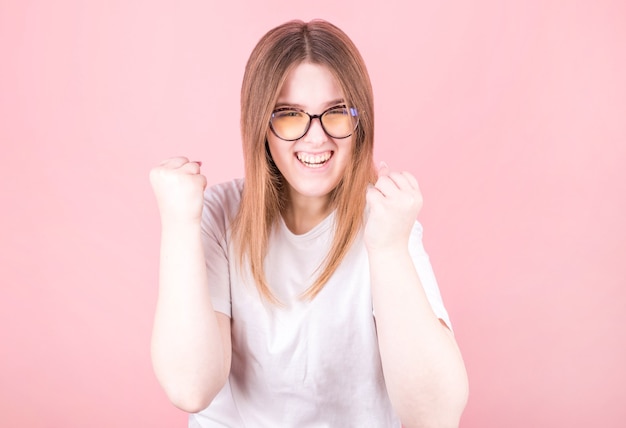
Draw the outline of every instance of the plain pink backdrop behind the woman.
M361 49L376 157L415 173L471 383L462 427L626 420L623 1L0 1L0 426L182 427L149 338L149 169L242 174L257 40Z

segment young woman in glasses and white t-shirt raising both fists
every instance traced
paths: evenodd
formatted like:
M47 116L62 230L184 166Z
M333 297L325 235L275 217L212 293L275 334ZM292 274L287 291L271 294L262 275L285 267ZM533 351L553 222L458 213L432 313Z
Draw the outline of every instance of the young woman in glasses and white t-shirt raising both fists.
M152 356L190 427L453 427L467 399L416 222L373 166L372 89L325 21L269 31L241 90L245 181L151 171L162 220Z

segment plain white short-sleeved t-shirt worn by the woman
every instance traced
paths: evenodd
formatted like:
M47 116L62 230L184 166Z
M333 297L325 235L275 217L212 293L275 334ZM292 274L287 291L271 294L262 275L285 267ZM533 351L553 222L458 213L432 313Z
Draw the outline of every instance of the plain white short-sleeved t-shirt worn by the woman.
M281 219L265 274L284 306L272 306L236 266L229 225L242 188L243 180L233 180L205 192L211 298L216 311L231 317L233 352L226 386L189 416L189 427L400 427L383 379L362 234L322 291L306 301L299 296L330 248L335 215L303 235ZM421 236L416 222L410 252L435 314L450 325Z

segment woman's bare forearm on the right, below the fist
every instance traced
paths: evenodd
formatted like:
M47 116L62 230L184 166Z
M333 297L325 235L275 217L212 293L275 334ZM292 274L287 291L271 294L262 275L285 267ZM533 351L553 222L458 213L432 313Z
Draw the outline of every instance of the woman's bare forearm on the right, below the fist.
M456 427L467 375L452 333L437 319L409 252L370 251L372 296L385 383L406 428Z

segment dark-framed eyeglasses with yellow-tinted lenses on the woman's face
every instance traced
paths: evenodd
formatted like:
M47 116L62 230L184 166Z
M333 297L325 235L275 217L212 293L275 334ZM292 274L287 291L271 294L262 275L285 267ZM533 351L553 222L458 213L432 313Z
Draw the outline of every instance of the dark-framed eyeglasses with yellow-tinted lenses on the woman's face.
M359 113L354 107L334 106L322 114L284 107L272 112L270 129L281 140L295 141L304 137L311 121L319 119L324 132L332 138L348 138L359 124Z

